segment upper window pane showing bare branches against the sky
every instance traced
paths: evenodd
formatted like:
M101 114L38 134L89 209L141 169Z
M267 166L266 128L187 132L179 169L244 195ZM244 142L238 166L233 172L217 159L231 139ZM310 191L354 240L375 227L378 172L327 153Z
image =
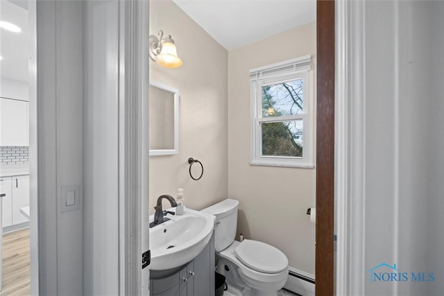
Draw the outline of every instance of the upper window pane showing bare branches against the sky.
M262 116L288 116L302 113L303 80L262 87Z

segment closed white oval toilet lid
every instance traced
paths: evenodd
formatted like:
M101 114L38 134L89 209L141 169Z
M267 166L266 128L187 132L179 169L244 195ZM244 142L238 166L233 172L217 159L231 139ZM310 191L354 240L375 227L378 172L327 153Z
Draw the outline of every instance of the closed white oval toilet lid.
M234 255L249 268L264 273L278 273L289 265L284 253L260 241L244 240L234 250Z

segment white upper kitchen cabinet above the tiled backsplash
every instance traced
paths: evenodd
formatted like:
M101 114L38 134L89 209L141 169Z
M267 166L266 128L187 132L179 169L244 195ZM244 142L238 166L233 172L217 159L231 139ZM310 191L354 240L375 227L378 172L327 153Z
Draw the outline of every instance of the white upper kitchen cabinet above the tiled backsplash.
M28 102L0 98L0 146L28 146Z

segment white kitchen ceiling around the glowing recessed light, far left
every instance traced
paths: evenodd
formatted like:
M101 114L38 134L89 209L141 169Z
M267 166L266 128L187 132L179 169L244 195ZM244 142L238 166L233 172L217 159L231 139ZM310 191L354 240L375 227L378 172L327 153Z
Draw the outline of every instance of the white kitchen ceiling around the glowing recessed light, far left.
M20 33L0 28L0 55L3 57L0 61L0 76L28 82L28 10L1 0L0 19L22 28Z

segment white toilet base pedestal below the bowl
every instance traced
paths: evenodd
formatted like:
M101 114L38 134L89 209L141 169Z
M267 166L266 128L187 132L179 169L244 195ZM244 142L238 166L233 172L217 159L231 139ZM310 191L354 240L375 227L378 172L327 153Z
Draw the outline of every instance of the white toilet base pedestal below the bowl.
M237 265L218 256L217 272L225 276L227 292L235 296L277 296L277 290L257 290L241 279Z

